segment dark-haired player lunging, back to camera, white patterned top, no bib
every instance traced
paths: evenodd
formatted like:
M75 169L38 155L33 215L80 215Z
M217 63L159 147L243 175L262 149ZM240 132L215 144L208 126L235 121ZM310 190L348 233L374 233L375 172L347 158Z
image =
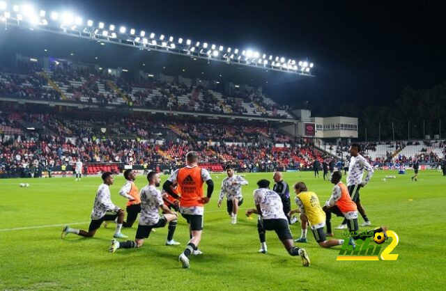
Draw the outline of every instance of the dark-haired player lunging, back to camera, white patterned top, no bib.
M302 258L302 265L309 266L309 257L305 249L300 249L294 246L293 237L289 229L288 219L283 210L282 199L279 194L269 189L270 181L260 180L257 182L259 189L254 190L254 203L256 209L249 209L246 215L249 217L252 213L259 215L257 218L257 230L259 231L259 238L261 249L259 253L267 253L266 247L266 230L275 230L277 236L284 244L286 251L290 255L300 255Z

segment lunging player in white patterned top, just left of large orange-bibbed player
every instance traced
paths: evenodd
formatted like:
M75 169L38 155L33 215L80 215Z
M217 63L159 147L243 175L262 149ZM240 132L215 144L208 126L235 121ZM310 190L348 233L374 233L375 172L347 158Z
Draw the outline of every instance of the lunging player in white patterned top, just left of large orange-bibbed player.
M116 239L112 240L112 245L109 251L114 253L116 249L132 249L139 248L144 243L144 239L148 238L151 234L152 228L163 228L169 223L170 228L176 228L176 221L178 215L175 212L171 212L162 200L160 190L156 187L160 186L160 175L154 171L147 175L148 185L141 189L141 217L139 217L139 224L137 234L134 241L128 240L127 242L118 242ZM160 217L159 209L165 213Z

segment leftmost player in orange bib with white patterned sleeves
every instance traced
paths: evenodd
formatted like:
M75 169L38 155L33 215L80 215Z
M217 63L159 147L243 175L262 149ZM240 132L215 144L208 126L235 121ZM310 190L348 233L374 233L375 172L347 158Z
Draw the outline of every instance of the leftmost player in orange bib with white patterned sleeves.
M124 178L127 180L124 186L119 190L119 195L128 199L127 207L127 220L124 221L123 227L131 228L134 221L137 220L139 212L141 212L141 198L139 197L139 190L134 184L136 175L134 171L128 169L124 171Z

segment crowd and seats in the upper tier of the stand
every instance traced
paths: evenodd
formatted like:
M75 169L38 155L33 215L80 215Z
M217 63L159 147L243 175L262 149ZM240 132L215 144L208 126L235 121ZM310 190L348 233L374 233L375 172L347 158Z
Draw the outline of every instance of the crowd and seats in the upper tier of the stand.
M14 72L0 72L0 95L83 102L97 106L127 104L170 111L197 111L275 118L293 118L266 95L247 88L231 94L201 84L148 78L126 81L105 70L53 62L43 70L36 63L20 61ZM49 84L51 82L51 84Z

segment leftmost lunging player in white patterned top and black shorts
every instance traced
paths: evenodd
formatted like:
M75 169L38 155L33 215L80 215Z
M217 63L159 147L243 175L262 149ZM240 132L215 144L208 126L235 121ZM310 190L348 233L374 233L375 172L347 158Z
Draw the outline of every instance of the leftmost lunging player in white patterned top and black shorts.
M74 233L76 235L80 235L82 237L93 237L95 235L96 230L100 228L100 225L103 221L112 221L117 218L116 230L114 232L113 237L123 238L128 237L127 235L123 235L121 233L121 228L123 226L124 220L124 210L120 209L118 206L112 203L110 199L110 189L109 185L113 184L113 175L110 172L105 172L102 174L102 181L96 192L95 204L93 206L93 211L91 212L91 223L89 227L89 232L87 233L85 230L78 230L76 228L70 228L66 226L62 230L62 239L68 235L68 233Z

